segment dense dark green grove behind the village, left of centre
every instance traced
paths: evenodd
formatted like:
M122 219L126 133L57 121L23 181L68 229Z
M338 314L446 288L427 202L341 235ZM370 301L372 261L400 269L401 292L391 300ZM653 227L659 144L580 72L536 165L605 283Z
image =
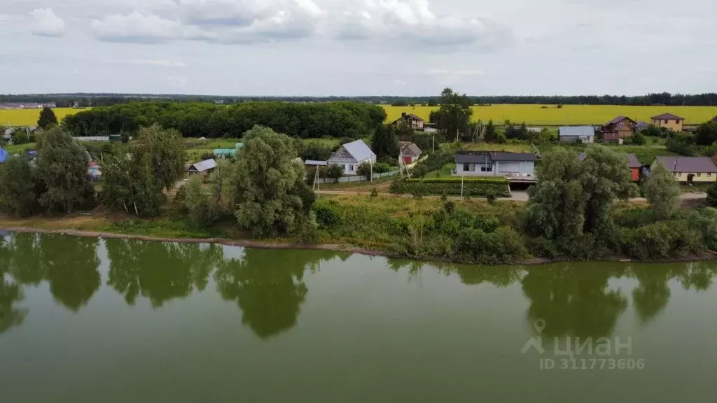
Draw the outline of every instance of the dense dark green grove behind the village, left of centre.
M255 125L300 138L361 138L386 119L384 108L366 103L250 102L214 103L144 102L84 110L66 116L65 130L75 136L108 136L136 133L158 123L184 137L232 137Z

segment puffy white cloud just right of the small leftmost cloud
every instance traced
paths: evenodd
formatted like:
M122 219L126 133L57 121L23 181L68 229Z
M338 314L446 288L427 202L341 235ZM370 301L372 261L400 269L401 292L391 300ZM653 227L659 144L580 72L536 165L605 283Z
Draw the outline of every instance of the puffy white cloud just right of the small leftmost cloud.
M92 20L95 37L107 42L163 43L183 36L181 24L148 11L113 14Z

